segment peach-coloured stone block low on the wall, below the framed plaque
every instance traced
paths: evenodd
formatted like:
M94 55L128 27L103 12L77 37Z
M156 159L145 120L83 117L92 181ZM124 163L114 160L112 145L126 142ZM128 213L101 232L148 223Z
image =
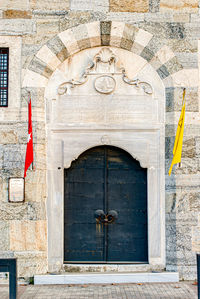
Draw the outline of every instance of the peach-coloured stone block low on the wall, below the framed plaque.
M10 221L10 249L46 251L46 221Z

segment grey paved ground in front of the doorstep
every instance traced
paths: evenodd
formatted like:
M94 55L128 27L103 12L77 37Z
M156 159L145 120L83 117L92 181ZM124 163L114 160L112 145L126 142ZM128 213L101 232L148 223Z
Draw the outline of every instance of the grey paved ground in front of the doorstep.
M112 285L19 286L18 299L197 299L192 283ZM8 286L0 285L0 299L8 299Z

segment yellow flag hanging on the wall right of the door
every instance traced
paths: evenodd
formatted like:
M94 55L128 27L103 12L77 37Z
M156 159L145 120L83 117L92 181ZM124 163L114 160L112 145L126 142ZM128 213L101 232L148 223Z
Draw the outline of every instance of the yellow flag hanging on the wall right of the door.
M182 154L182 146L183 146L183 132L184 132L184 121L185 121L185 89L183 91L183 103L182 103L182 110L181 116L178 122L178 128L176 131L176 138L174 142L173 148L173 159L169 169L169 175L171 175L173 165L176 163L181 163L181 154Z

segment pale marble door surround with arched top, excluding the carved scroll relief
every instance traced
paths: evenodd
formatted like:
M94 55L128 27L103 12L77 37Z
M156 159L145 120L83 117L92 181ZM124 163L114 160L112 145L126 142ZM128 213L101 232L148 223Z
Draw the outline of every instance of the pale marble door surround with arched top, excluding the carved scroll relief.
M79 63L74 62L74 68L82 73L89 55L96 57L99 48L86 49L69 58L48 81L45 98L49 272L63 269L63 169L69 168L81 153L99 145L121 148L147 168L149 266L152 270L165 267L165 86L142 57L109 48L126 64L127 71L132 68L127 61L138 63L137 70L133 64L135 74L141 82L152 86L153 93L145 94L120 81L121 87L117 85L113 93L100 94L94 90L92 79L88 79L71 88L71 94L59 94L60 76L66 76L66 65L71 66L76 56L74 61Z

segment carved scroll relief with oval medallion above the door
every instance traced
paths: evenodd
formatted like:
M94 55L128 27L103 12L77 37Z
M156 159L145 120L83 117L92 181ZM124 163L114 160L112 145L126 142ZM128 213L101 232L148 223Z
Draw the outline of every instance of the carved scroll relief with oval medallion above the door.
M110 94L116 88L114 76L121 76L124 83L143 90L146 95L152 95L152 86L147 82L142 82L138 78L130 79L126 70L118 61L117 56L109 48L102 48L93 60L86 67L83 75L78 79L71 79L59 85L58 94L70 94L70 90L78 85L85 84L89 76L94 76L94 89L103 94Z

